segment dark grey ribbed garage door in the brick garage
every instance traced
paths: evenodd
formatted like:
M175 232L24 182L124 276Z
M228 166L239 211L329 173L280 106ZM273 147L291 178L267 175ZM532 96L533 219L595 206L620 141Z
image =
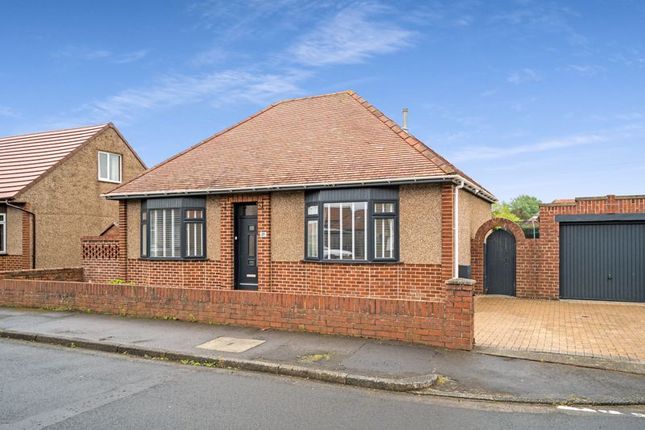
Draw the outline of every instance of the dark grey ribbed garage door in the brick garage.
M645 223L561 223L560 297L645 302Z

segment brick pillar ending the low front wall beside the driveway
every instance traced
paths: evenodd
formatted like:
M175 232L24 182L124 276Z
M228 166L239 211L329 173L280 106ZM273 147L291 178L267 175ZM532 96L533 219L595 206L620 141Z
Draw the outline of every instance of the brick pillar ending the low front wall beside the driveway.
M446 348L470 351L475 344L475 281L450 279L446 281L443 338Z

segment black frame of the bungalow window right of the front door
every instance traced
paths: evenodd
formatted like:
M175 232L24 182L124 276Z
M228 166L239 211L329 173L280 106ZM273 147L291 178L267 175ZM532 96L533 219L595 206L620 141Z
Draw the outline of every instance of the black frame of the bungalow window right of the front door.
M362 259L341 259L325 258L324 244L324 219L325 204L338 203L363 203L367 205L367 225L365 228L365 237L367 242L367 252ZM380 206L385 204L385 206ZM376 210L378 205L379 211ZM310 209L312 208L312 209ZM315 208L315 209L313 209ZM388 209L388 211L383 211ZM389 211L389 209L392 209ZM305 196L305 249L304 260L315 261L327 264L364 264L364 263L396 263L399 261L399 190L398 187L372 187L372 188L343 188L332 190L320 190L308 192ZM377 220L392 220L393 243L391 257L379 257L375 249L375 226ZM316 240L317 247L309 249L309 225L310 222L317 223ZM382 227L382 222L380 223ZM314 251L315 248L315 251ZM310 255L309 251L315 252ZM388 254L390 254L388 252Z

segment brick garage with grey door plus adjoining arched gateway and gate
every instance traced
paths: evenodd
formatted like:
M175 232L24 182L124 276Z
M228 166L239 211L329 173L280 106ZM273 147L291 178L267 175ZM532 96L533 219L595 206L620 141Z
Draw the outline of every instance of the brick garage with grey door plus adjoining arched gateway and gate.
M645 196L555 200L538 222L536 239L502 218L477 230L476 292L645 302Z

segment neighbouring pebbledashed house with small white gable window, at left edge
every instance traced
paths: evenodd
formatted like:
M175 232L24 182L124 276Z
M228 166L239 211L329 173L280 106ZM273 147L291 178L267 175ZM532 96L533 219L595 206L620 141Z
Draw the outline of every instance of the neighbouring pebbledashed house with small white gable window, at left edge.
M101 194L146 169L112 124L0 138L0 271L80 267L118 221Z

